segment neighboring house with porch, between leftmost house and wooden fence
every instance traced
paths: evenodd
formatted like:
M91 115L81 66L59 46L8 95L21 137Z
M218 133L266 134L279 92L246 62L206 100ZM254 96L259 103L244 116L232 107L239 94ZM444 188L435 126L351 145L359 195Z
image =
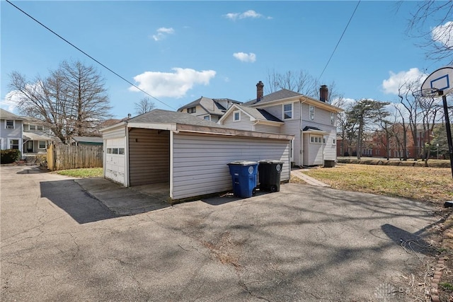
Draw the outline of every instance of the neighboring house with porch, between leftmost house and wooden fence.
M23 155L47 153L47 146L57 140L52 135L50 125L34 117L23 117L23 119Z

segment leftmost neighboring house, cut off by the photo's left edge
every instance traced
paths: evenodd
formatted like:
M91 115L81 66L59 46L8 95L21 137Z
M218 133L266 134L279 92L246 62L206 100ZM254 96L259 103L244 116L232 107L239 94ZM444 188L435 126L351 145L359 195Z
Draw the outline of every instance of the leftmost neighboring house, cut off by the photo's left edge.
M23 117L0 108L0 149L23 153Z

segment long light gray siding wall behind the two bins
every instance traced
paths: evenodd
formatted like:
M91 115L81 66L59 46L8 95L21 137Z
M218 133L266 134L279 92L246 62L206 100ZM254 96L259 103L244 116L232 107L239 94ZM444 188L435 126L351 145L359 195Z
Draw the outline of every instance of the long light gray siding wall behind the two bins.
M281 180L289 180L289 141L189 134L173 136L173 190L182 199L231 190L231 161L284 161Z

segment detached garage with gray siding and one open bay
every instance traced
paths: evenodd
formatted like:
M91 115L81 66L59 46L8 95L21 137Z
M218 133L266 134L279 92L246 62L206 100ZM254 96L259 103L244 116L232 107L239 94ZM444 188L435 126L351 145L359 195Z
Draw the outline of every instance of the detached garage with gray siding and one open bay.
M170 198L231 190L231 161L277 159L289 180L292 136L229 129L183 112L152 110L102 129L104 177L125 187L168 183Z

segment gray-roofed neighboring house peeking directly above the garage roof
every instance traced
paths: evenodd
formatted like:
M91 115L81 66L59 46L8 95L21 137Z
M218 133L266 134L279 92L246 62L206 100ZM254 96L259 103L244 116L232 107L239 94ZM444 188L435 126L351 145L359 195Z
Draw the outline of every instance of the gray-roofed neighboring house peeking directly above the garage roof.
M201 98L194 100L178 109L178 112L187 112L196 117L211 122L217 122L222 115L233 104L240 104L237 100L230 100L229 98Z

